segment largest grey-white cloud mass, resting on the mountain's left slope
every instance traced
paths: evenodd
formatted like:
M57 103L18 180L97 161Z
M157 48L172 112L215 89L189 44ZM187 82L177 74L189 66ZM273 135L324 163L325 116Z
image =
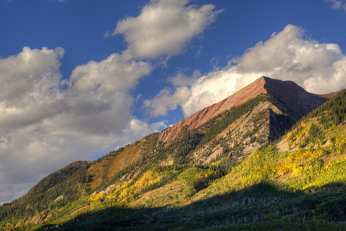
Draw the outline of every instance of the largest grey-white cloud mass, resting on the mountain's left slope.
M30 49L0 59L1 202L50 172L157 131L132 116L129 89L151 64L114 53L59 72L64 49Z

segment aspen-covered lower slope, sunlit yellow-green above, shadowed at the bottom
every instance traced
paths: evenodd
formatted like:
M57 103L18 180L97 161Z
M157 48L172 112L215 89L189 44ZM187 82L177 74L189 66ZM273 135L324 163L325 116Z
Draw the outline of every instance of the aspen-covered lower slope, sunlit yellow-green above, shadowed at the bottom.
M270 146L252 153L246 159L248 161L243 161L244 165L239 165L226 177L216 180L190 198L184 197L183 186L176 190L177 181L139 195L138 199L134 198L128 204L121 200L104 211L102 208L115 200L109 198L111 196L93 195L85 199L86 203L90 203L89 212L81 211L74 219L66 219L60 229L92 230L94 225L105 224L116 229L131 227L134 230L227 226L257 230L258 225L264 225L266 229L345 229L344 225L338 223L345 219L345 173L340 171L345 167L345 158L336 155L337 160L325 167L308 161L304 166L312 166L311 173L318 172L315 177L312 178L312 174L296 174L279 184L275 182L279 174L267 177L263 174L266 169L262 172L249 171L256 165L263 167L276 163L277 167L281 159L309 159L306 154L313 151L280 153L272 149ZM333 155L333 152L330 154ZM147 174L152 175L150 171ZM143 182L147 174L133 186ZM127 188L131 192L131 186L123 191L127 192ZM142 197L145 199L140 201ZM70 208L69 211L78 210L79 207Z

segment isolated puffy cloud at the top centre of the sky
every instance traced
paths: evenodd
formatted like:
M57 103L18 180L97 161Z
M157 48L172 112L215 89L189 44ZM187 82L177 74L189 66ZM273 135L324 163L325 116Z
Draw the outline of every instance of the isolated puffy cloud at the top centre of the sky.
M186 6L188 2L152 0L139 16L119 20L112 35L123 34L128 51L138 57L180 54L222 11L215 10L212 4Z

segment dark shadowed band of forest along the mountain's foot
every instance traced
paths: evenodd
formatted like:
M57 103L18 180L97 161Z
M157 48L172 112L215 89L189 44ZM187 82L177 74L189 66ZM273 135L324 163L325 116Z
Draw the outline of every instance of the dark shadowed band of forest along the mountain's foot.
M36 230L345 230L345 192L343 182L307 192L263 182L181 208L109 207Z

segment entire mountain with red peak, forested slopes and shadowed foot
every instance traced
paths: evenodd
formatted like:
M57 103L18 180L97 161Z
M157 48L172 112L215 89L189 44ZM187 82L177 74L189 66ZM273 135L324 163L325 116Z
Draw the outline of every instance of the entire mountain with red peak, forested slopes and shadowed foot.
M346 225L346 91L260 77L217 104L0 206L4 230Z

